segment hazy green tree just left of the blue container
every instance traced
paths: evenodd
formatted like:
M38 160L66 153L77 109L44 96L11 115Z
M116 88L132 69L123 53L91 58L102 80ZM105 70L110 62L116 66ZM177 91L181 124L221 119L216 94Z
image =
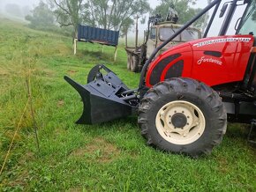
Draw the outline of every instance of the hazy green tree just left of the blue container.
M56 21L62 26L72 26L74 35L77 33L82 18L83 0L51 0L54 3Z

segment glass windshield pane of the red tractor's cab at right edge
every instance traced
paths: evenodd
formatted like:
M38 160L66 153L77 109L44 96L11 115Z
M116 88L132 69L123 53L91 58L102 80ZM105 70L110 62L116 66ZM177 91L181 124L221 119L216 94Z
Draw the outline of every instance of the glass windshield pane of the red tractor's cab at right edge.
M245 15L245 18L243 21L241 21L240 29L238 29L239 34L253 34L256 35L256 0L252 1L252 4L250 5L247 14Z

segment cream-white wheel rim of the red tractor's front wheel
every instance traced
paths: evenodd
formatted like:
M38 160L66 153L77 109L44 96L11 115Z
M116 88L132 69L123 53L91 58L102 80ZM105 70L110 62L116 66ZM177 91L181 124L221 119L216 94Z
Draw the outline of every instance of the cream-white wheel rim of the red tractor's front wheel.
M182 125L177 125L177 116ZM180 123L180 122L178 122ZM204 114L199 107L184 100L171 101L156 114L155 125L158 133L171 144L192 144L198 140L206 127Z

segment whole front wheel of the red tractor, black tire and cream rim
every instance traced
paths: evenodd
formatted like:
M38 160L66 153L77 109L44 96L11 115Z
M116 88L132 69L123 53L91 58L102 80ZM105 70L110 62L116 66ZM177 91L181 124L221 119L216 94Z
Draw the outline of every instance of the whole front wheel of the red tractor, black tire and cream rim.
M191 78L171 78L145 94L138 122L147 144L196 158L221 143L227 114L209 86Z

